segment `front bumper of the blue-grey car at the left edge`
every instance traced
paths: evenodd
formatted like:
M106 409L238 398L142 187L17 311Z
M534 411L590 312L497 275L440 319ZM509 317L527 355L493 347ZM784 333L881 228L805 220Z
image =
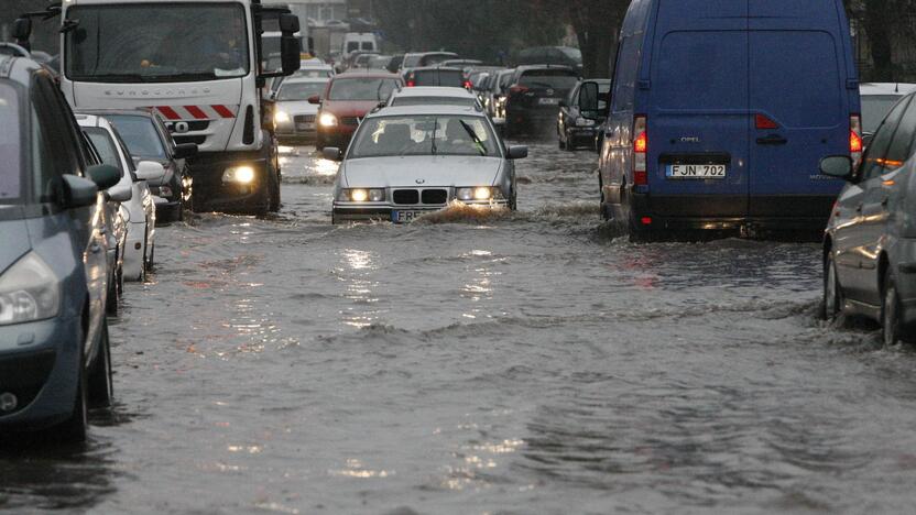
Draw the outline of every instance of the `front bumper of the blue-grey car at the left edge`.
M0 412L0 430L43 429L73 413L79 380L79 318L0 327L0 395L17 407Z

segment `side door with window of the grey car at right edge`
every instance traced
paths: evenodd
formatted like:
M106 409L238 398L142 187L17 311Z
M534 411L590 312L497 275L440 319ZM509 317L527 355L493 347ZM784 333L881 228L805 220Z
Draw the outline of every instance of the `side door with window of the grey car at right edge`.
M857 173L857 185L848 188L838 204L838 209L849 221L836 231L837 274L849 298L870 305L876 305L873 292L876 256L871 255L875 250L875 228L869 216L876 215L874 202L881 204L882 176L887 172L885 158L908 103L909 98L897 103L879 127ZM872 205L869 213L865 212L866 199Z

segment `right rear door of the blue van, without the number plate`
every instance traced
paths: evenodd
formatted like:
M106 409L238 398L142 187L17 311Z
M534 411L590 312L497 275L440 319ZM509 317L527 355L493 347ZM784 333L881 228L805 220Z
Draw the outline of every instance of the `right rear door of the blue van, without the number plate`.
M825 221L849 154L851 98L837 0L750 0L751 217Z

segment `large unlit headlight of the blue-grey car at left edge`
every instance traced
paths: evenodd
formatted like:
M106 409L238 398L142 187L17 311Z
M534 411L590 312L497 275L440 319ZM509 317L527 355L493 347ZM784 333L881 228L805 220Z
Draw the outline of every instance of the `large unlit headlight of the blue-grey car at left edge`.
M0 326L53 318L59 310L61 284L35 252L0 276Z

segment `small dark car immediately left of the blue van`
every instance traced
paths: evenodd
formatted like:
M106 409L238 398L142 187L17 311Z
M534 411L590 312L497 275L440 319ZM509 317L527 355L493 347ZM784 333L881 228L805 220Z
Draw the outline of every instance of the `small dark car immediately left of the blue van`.
M569 97L560 100L557 117L560 150L572 151L579 146L595 150L598 128L607 119L610 92L609 79L590 79L579 83Z

